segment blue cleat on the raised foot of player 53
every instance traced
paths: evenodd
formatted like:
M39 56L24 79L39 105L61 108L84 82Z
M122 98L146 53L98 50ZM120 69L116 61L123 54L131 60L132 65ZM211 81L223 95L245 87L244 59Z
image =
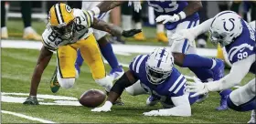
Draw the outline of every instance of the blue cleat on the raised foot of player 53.
M224 65L223 60L216 58L215 61L216 61L216 65L215 65L215 67L213 67L211 69L213 72L213 80L214 81L219 80L220 78L223 78L225 75L224 74L225 65Z

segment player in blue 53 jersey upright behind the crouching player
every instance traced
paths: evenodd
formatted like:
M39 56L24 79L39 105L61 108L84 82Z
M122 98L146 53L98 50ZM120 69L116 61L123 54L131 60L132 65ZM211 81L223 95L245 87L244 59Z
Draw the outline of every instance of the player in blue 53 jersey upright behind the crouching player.
M135 11L141 9L140 2L130 1L133 3ZM224 63L221 59L213 59L208 57L200 57L197 55L197 48L195 41L187 42L184 39L181 42L173 43L170 39L173 34L182 29L191 28L199 24L199 15L197 11L202 7L200 1L147 1L148 5L154 7L156 15L156 22L163 22L167 29L167 37L169 39L169 45L175 58L175 64L179 67L188 67L193 71L197 78L202 82L208 82L209 80L219 80L224 77ZM115 6L122 5L123 1L104 1L100 5L93 7L91 10L100 14L107 12ZM220 105L217 110L228 109L227 98L230 89L221 90L219 95L221 96ZM207 95L200 96L203 99ZM154 102L157 100L154 97L149 97L148 100Z

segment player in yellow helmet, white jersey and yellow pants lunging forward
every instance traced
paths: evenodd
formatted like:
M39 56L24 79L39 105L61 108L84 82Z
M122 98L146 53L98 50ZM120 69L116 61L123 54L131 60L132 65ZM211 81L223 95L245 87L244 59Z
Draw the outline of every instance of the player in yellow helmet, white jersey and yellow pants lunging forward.
M57 80L60 87L71 88L76 80L75 60L77 49L80 48L81 56L91 69L92 78L106 91L112 88L112 81L106 76L106 71L101 58L101 51L92 28L106 31L113 36L134 36L141 29L123 31L119 26L107 24L93 17L92 11L71 9L69 5L59 3L50 8L48 25L42 34L43 47L37 59L32 79L29 97L24 104L38 105L37 88L44 69L52 57L53 50L57 50ZM52 84L53 87L56 84Z

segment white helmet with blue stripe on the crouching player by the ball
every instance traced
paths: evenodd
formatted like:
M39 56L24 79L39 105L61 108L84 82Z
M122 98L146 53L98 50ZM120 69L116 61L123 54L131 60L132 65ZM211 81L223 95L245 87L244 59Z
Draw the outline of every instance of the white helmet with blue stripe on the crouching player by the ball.
M155 48L145 64L147 79L154 85L161 84L171 75L173 67L172 53L165 47Z

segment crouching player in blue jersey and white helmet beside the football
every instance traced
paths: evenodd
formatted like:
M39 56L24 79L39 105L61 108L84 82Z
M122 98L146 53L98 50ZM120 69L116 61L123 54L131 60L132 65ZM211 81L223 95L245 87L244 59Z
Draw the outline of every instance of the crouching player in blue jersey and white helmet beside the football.
M113 85L105 104L91 111L111 111L112 103L121 96L123 89L132 86L136 88L133 95L148 93L158 98L165 108L144 112L144 116L191 116L190 105L197 98L190 98L186 92L187 79L174 67L170 51L157 48L150 55L137 56L129 68Z

